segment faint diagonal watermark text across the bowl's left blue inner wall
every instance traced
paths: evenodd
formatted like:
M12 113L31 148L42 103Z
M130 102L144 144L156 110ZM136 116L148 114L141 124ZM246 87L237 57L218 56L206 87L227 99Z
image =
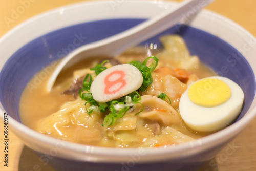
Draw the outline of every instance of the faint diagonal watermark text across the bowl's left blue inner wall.
M57 58L61 58L64 56L67 56L70 52L75 50L77 47L79 47L84 40L86 40L87 37L83 37L82 34L75 34L75 38L73 39L72 43L69 44L67 47L62 48L59 50L56 54ZM28 90L30 93L33 92L34 89L36 89L38 86L41 85L41 83L46 80L49 75L52 74L53 70L57 67L58 61L53 61L50 63L50 65L42 68L41 72L34 75L32 82L29 82L27 84Z

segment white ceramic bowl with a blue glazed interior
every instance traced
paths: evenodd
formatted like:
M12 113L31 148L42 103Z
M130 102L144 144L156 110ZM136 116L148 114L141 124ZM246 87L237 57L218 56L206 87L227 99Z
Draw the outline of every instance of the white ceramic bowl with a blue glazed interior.
M7 113L10 129L39 155L40 161L57 170L196 170L214 158L256 114L256 39L229 19L206 10L189 24L176 25L160 35L181 35L192 55L241 86L245 94L242 112L225 129L177 146L105 148L42 135L23 125L18 111L20 95L36 72L81 45L129 29L175 5L158 1L78 3L35 16L15 27L0 39L1 118L4 120ZM193 10L183 19L190 19ZM160 47L160 35L142 45L153 43Z

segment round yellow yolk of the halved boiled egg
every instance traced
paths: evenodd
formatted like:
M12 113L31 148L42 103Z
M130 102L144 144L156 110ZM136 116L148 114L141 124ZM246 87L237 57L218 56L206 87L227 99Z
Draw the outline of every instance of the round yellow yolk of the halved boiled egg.
M189 87L188 97L193 103L210 108L225 103L231 97L231 90L219 79L206 78Z

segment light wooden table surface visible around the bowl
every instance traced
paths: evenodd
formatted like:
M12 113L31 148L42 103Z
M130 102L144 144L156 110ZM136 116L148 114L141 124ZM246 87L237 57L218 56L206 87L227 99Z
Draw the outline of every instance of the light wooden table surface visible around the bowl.
M161 2L161 0L152 1ZM180 2L181 0L176 1ZM24 5L25 2L27 4ZM0 0L0 37L31 16L75 2L81 2L81 0ZM12 18L12 11L20 8L20 6L26 6L25 10L20 12L15 18ZM256 36L256 0L216 0L207 9L230 18ZM11 20L8 20L8 18ZM3 127L3 122L0 121L0 138L2 140L0 142L0 170L30 171L35 170L33 166L36 164L40 166L41 170L54 170L40 162L38 157L29 148L24 146L12 132L9 132L9 163L8 167L4 167ZM256 170L255 144L256 118L248 124L246 129L236 139L229 143L229 145L234 147L233 153L228 153L229 147L227 146L215 159L212 159L211 162L200 170Z

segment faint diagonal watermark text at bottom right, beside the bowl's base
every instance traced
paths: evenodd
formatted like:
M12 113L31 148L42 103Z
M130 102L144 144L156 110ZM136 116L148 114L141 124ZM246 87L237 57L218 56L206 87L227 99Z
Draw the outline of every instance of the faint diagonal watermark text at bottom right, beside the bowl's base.
M239 146L235 145L234 142L228 143L227 147L224 148L223 152L219 154L217 157L214 159L210 160L209 162L209 169L205 169L204 171L212 171L212 170L218 170L218 165L222 165L225 161L228 160L229 156L233 155Z

